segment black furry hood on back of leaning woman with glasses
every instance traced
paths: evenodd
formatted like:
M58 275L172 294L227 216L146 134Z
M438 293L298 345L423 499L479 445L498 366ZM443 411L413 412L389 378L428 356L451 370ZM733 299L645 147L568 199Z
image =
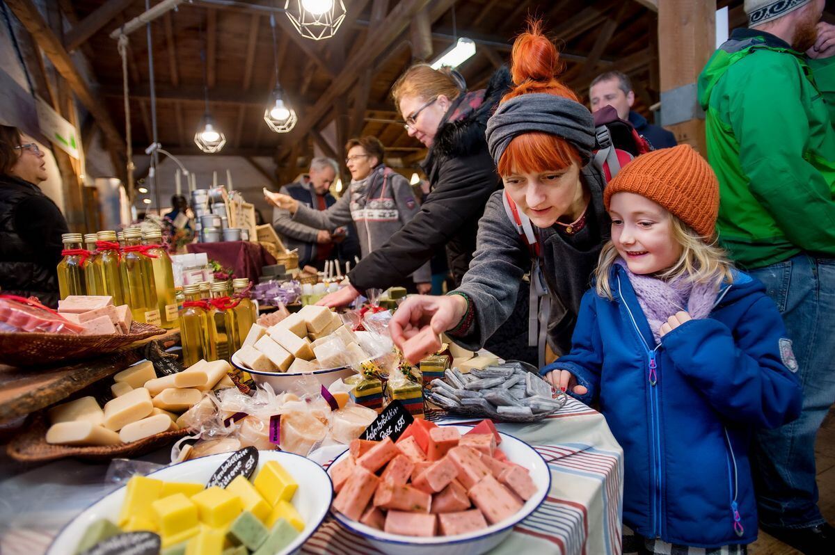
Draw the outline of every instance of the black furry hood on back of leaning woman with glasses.
M456 98L455 103L448 109L447 115L441 122L438 133L426 159L423 161L424 172L429 175L429 169L433 167L436 159L446 159L455 156L472 154L478 149L486 149L484 130L487 127L487 120L496 109L498 101L508 92L512 84L510 72L507 66L498 68L490 78L487 88L484 89L483 102L470 110L468 114L460 119L448 121L451 114L455 113L459 104L467 98L464 93Z

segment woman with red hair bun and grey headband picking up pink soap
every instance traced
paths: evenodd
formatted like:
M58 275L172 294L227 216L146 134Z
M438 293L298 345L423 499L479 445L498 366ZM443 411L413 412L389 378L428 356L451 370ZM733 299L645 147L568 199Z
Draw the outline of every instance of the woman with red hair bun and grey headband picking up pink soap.
M511 315L531 254L506 203L533 224L535 240L529 243L539 249L534 265L542 272L531 273L531 290L543 295L540 335L554 352L569 351L580 300L610 237L610 219L603 205L605 179L589 164L594 121L557 79L561 70L554 44L539 22L532 23L514 43L514 88L488 120L488 149L504 191L488 200L469 270L458 289L443 297L410 298L392 319L392 339L411 361L436 351L441 332L476 350Z

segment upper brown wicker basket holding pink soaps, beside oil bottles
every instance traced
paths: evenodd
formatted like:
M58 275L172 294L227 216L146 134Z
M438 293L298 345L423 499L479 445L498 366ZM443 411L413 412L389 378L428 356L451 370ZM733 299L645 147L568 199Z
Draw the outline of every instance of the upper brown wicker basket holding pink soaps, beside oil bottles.
M124 336L77 336L58 333L0 333L0 363L33 366L101 356L134 341L164 334L155 325L134 322Z

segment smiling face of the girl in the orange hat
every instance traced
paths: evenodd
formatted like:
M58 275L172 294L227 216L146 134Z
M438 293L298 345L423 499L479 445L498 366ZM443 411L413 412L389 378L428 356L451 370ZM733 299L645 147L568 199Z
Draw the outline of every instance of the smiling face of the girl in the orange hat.
M633 274L656 274L676 265L682 248L671 214L640 194L615 193L609 204L612 242Z

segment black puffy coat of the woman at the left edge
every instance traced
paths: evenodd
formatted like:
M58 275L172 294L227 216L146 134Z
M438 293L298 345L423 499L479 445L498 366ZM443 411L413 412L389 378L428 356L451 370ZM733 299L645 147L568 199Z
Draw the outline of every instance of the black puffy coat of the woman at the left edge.
M58 306L58 262L68 233L61 210L35 185L0 175L0 294Z

